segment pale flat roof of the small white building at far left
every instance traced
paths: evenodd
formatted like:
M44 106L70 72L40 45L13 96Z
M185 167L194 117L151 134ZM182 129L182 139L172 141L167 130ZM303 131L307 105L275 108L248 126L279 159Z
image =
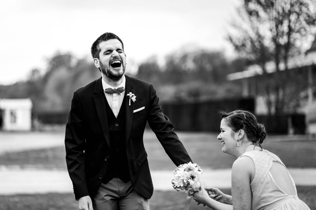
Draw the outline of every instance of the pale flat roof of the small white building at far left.
M32 101L26 99L0 99L0 109L32 109Z

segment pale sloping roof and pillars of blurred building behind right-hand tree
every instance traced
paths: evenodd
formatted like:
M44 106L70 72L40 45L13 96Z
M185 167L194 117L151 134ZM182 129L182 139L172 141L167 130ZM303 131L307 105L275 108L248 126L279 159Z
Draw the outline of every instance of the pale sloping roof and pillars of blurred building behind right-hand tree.
M301 107L301 111L306 115L307 132L316 133L316 37L305 55L289 59L287 66L288 71L303 71L307 74L307 90L302 91L307 93L308 103L306 107ZM274 62L268 62L265 67L267 73L276 73ZM279 69L279 73L282 73L285 69L285 65L281 63ZM255 113L267 114L268 108L264 102L264 97L258 93L258 84L261 75L263 75L263 71L259 65L250 65L245 71L228 74L227 80L241 81L243 96L252 96L255 98Z

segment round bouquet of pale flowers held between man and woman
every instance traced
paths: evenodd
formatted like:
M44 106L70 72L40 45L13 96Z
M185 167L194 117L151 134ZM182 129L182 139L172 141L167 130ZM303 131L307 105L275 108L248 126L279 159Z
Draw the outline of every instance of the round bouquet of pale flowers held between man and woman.
M172 186L177 191L181 190L192 195L201 187L199 182L201 174L202 169L196 163L181 164L173 172Z

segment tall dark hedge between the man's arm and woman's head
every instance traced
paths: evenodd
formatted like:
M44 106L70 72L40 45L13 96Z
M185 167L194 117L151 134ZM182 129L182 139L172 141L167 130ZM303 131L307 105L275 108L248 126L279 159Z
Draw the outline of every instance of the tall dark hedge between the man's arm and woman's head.
M222 116L219 111L244 109L254 111L254 99L222 99L196 103L163 103L162 111L179 131L218 132Z

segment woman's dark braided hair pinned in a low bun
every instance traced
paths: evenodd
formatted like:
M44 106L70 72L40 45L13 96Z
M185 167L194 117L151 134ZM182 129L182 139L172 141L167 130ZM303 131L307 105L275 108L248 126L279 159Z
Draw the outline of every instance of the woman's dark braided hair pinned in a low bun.
M234 132L240 129L245 131L247 138L261 149L266 137L264 124L258 123L257 118L249 111L236 110L232 112L221 111L222 119Z

